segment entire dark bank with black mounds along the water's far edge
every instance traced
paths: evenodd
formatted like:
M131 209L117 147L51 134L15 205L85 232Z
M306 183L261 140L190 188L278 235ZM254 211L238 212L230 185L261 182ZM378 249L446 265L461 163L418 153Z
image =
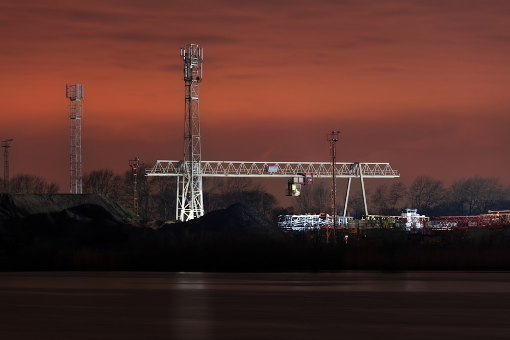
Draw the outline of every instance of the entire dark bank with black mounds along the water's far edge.
M164 224L133 220L100 195L2 195L0 271L510 268L507 233L469 231L466 237L449 234L434 243L426 236L402 234L398 242L368 235L325 244L315 231L314 238L290 236L243 204Z

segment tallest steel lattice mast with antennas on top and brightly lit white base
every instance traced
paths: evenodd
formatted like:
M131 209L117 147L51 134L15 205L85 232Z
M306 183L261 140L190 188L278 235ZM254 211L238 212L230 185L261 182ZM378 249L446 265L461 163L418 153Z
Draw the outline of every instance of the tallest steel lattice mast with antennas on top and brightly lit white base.
M195 44L181 47L184 60L184 163L182 183L177 177L176 219L188 221L203 216L202 169L198 83L202 81L202 48ZM180 191L180 188L182 189Z

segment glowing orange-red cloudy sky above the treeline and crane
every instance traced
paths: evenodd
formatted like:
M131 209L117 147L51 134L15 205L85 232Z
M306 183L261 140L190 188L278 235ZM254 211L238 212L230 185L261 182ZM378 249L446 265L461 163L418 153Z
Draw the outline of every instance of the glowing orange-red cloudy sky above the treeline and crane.
M338 162L508 185L509 17L506 0L0 0L0 140L11 176L69 192L80 83L83 173L180 160L194 43L202 160L329 162L341 130Z

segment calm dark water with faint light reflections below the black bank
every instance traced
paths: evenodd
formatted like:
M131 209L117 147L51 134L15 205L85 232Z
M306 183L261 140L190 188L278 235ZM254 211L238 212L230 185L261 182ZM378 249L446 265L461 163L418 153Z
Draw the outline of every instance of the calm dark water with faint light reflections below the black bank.
M510 273L0 273L0 339L508 339Z

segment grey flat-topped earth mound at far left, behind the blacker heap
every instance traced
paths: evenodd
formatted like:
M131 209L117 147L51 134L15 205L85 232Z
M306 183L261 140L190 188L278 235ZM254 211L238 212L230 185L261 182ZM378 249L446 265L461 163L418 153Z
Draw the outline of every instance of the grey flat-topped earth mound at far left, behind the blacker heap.
M130 211L99 194L2 194L0 219L60 213L66 209L87 204L102 206L118 220L133 218Z

